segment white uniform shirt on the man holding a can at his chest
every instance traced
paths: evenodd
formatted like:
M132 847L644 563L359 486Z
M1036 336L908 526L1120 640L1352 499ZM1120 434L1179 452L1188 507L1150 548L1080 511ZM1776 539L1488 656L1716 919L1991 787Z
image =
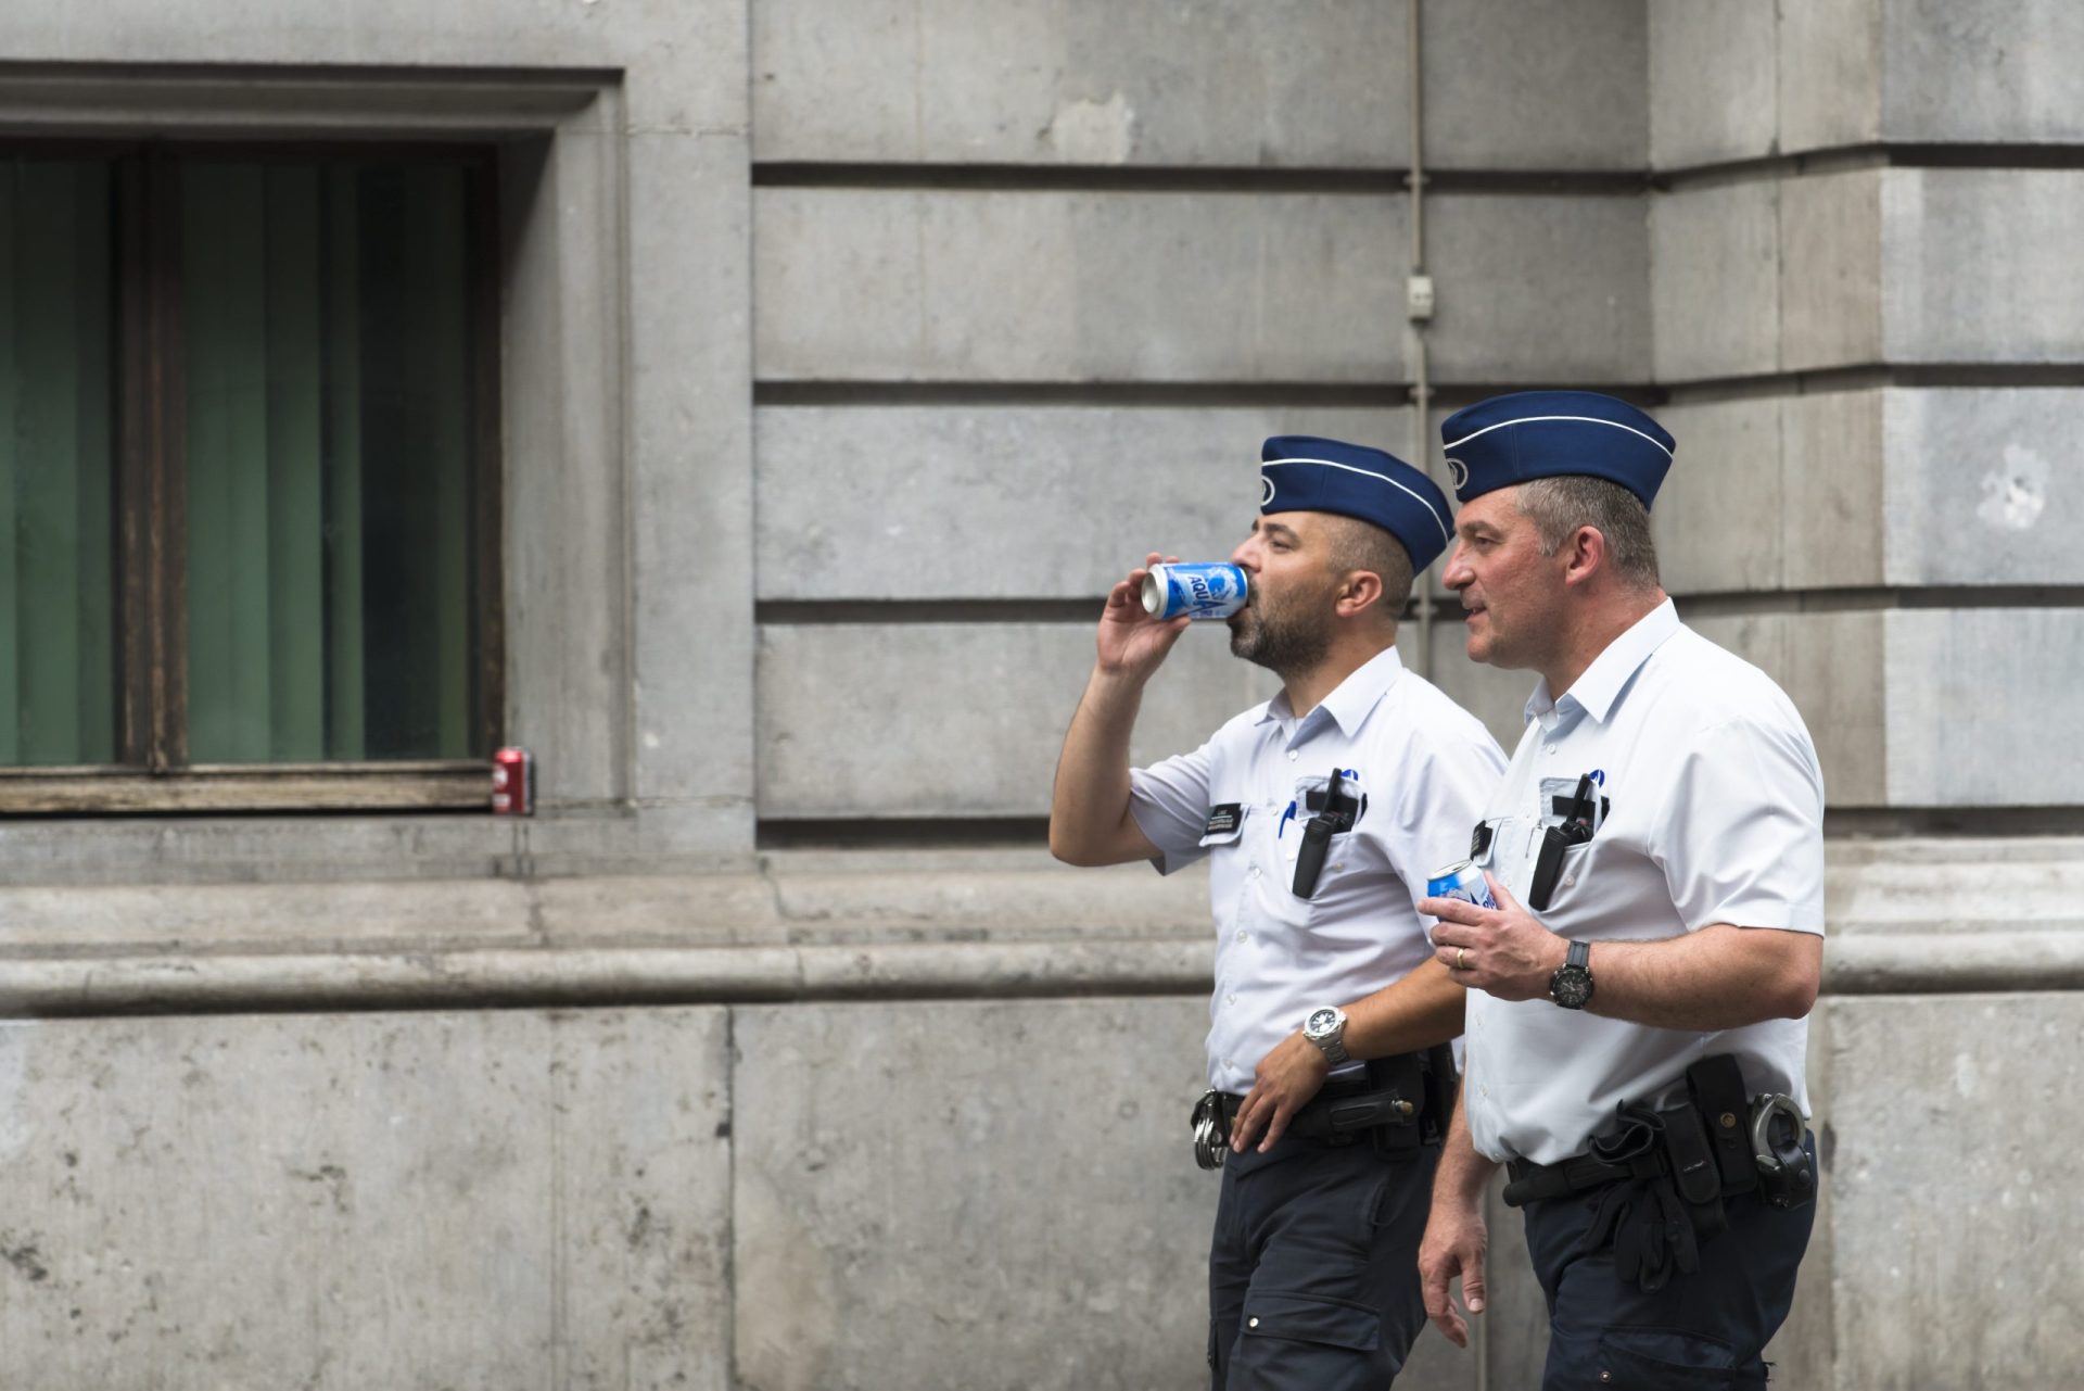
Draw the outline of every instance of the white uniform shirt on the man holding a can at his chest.
M1592 774L1605 820L1563 851L1546 911L1528 905L1542 826ZM1824 776L1809 730L1769 676L1678 619L1667 599L1613 640L1559 699L1546 682L1490 801L1478 857L1561 936L1655 941L1711 924L1824 932ZM1736 986L1736 982L1732 982ZM1596 993L1594 993L1596 1001ZM1492 1160L1584 1153L1623 1101L1671 1105L1684 1072L1734 1053L1746 1089L1809 1112L1807 1020L1719 1032L1653 1028L1548 999L1469 993L1469 1134Z

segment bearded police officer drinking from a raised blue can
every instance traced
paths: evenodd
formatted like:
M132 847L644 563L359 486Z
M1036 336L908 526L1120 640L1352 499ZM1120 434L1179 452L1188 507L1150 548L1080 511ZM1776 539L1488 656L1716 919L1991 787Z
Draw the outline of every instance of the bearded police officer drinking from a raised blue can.
M1417 1241L1453 1097L1438 1045L1461 1032L1463 989L1415 905L1505 765L1394 646L1411 578L1450 532L1440 488L1390 455L1267 440L1230 646L1282 692L1132 772L1144 684L1188 626L1144 613L1148 571L1132 569L1057 765L1059 859L1171 874L1209 857L1217 1391L1373 1391L1425 1326Z

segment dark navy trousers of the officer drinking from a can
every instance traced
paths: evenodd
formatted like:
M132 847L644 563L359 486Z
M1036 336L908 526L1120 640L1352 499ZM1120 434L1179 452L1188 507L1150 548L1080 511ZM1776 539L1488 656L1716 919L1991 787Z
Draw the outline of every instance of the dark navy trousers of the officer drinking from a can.
M1419 1239L1440 1145L1230 1155L1209 1251L1213 1391L1382 1391L1425 1326Z

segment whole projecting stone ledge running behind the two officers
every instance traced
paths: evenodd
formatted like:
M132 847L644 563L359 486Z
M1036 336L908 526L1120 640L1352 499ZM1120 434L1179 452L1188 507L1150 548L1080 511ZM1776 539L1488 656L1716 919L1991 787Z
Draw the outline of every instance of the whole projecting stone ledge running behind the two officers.
M2084 840L1832 843L1826 993L2084 989ZM792 851L756 874L0 890L0 1016L1200 995L1198 874Z

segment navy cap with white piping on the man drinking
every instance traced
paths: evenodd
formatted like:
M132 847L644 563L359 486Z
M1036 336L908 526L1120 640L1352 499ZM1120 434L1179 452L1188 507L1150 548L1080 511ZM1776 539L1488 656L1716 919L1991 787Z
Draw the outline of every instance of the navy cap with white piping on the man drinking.
M1373 521L1411 553L1419 574L1455 534L1440 486L1380 448L1307 434L1273 436L1259 450L1259 511L1332 511Z

